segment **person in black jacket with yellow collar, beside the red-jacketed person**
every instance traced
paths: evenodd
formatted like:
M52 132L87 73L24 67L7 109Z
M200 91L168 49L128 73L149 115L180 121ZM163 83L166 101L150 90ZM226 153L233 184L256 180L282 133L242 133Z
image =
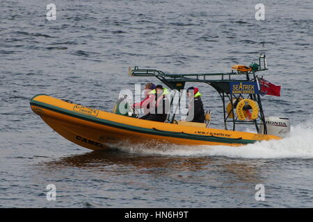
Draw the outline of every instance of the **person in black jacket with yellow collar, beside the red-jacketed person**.
M168 90L163 88L162 85L157 85L150 93L151 97L148 99L150 102L150 112L140 119L146 119L151 121L164 122L168 117L170 111L170 101L166 97Z

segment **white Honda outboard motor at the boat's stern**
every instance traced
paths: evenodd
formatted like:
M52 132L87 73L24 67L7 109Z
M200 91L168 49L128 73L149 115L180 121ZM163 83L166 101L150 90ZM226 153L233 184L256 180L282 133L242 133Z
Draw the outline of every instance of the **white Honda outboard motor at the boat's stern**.
M265 117L267 134L278 137L288 137L290 135L290 122L283 117ZM264 134L264 126L261 125L259 133Z

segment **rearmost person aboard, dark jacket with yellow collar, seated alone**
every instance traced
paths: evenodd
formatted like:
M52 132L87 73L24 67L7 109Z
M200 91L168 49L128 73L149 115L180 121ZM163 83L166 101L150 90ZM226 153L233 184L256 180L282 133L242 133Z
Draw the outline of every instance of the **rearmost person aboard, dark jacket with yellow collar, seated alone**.
M200 94L197 87L189 87L187 89L187 94L189 99L188 114L191 113L191 117L187 114L186 121L204 123L204 109L201 100L202 94Z

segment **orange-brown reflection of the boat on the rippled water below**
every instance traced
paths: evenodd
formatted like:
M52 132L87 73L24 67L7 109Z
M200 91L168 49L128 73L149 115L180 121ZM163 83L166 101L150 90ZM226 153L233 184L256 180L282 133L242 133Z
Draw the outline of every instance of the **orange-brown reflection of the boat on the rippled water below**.
M51 162L42 162L46 171L73 171L90 173L90 177L100 173L103 178L128 174L140 176L152 174L155 178L166 177L182 182L202 185L217 184L231 188L235 183L262 183L265 160L245 160L210 156L138 155L116 149L92 151L81 155L62 157ZM250 185L248 185L250 186Z

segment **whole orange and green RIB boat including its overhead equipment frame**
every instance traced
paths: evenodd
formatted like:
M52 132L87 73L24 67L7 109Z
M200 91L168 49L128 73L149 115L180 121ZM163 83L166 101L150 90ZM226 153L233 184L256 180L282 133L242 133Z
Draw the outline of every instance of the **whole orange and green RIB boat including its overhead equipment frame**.
M155 146L156 143L241 146L281 139L283 133L288 133L288 119L267 121L259 96L260 85L256 73L267 70L265 54L259 56L259 64L252 63L245 69L242 67L236 65L230 73L217 74L165 74L156 69L129 67L129 76L157 77L170 89L179 92L179 96L182 96L186 82L207 83L216 89L223 102L225 129L209 128L208 123L176 121L175 114L172 117L168 115L164 123L138 119L127 114L95 110L45 94L31 99L31 109L57 133L91 150L118 147L121 144ZM220 79L211 79L211 76ZM246 110L252 110L249 117ZM237 131L235 128L238 124L255 126L258 133Z

